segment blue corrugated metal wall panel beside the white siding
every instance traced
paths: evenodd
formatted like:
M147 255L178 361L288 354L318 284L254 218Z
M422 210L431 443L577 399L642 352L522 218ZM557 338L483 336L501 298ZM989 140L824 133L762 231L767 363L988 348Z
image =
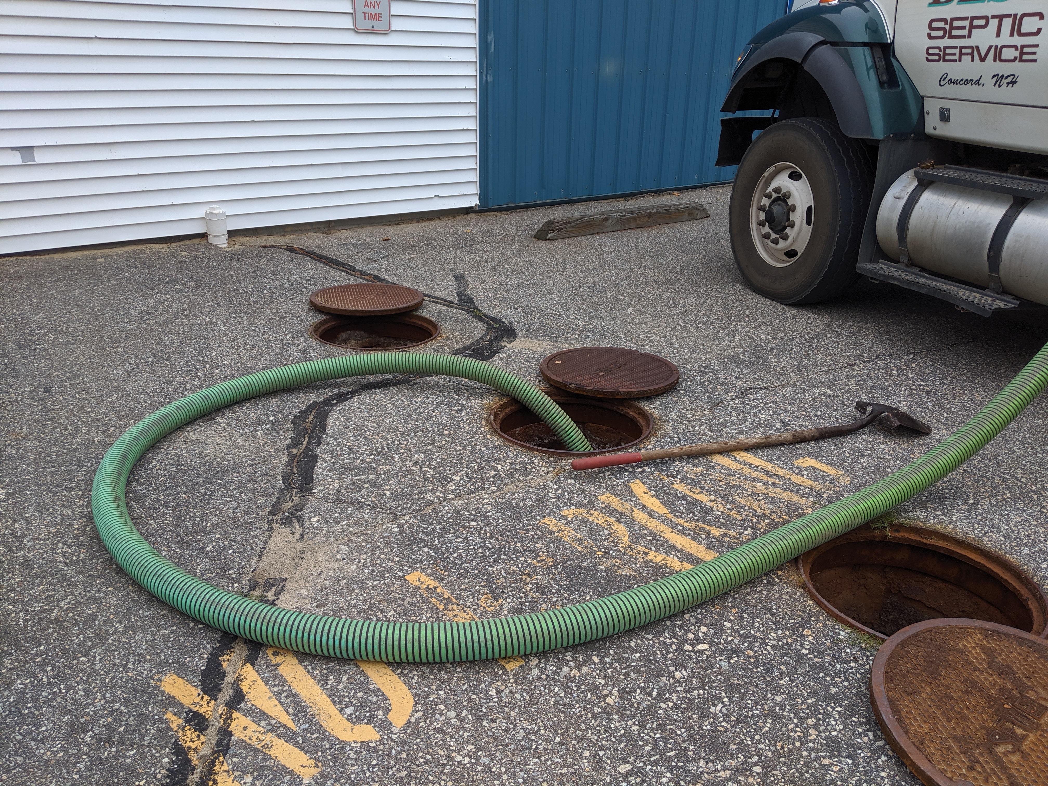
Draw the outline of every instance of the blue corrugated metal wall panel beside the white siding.
M480 203L729 180L736 58L786 0L480 0Z

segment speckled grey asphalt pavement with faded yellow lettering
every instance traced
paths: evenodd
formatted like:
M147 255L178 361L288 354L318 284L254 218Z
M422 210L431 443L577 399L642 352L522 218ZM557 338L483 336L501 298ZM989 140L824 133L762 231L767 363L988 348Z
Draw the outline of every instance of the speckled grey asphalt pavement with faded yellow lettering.
M744 456L572 473L486 425L504 400L445 377L311 385L201 418L129 483L146 539L191 573L284 608L462 620L599 597L723 553L877 480L963 423L1048 341L859 283L794 308L743 285L725 187L711 218L561 241L548 218L621 201L279 237L0 260L0 783L917 784L886 744L876 642L789 566L585 646L461 664L341 661L212 630L137 587L89 495L129 425L214 383L340 354L315 289L429 296L425 351L541 383L559 349L662 355L645 446L846 422L885 401L935 436L872 428ZM443 302L441 302L443 301ZM1048 587L1048 400L899 520L945 529ZM673 537L668 537L668 533ZM311 780L310 780L311 779Z

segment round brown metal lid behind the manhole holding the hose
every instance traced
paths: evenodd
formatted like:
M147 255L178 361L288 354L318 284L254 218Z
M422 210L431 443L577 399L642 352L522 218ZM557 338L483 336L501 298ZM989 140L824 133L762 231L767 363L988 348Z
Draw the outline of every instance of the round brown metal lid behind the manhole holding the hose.
M654 396L680 379L664 357L620 347L564 349L544 358L539 370L554 387L599 398Z

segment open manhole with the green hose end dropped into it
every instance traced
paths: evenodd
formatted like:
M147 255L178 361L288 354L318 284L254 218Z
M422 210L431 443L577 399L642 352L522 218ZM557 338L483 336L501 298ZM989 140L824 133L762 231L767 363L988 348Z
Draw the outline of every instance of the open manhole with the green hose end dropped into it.
M552 429L515 399L492 412L492 427L514 444L554 456L592 456L629 447L647 439L654 427L648 410L632 401L580 398L560 391L546 394L561 405L596 450L586 453L567 450Z

